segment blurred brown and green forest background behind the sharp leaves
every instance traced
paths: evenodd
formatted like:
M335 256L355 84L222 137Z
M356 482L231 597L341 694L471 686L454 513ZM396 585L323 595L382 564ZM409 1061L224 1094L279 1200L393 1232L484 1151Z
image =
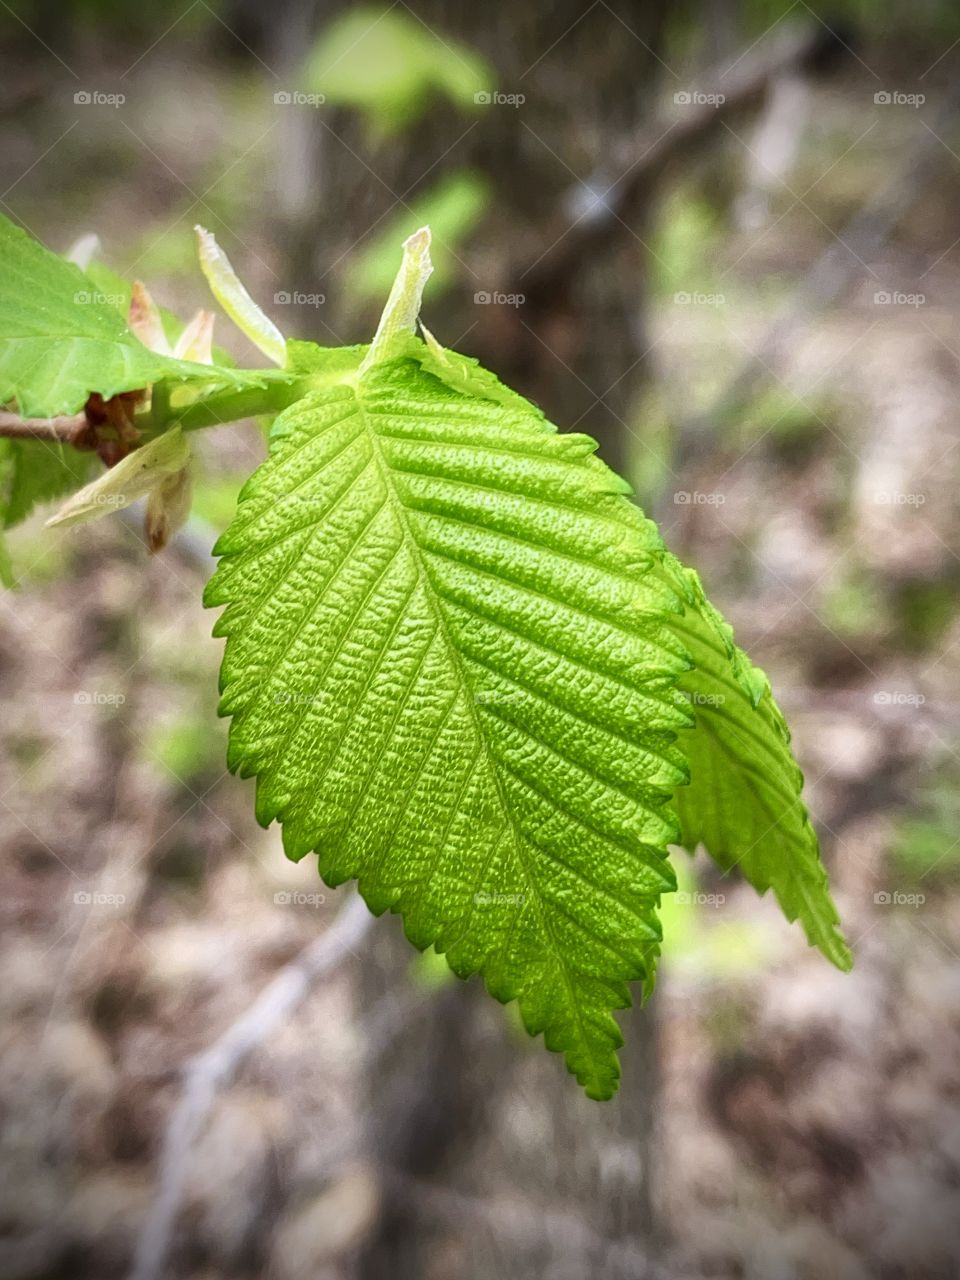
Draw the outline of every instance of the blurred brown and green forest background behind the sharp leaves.
M202 223L285 334L366 340L431 224L430 329L600 440L769 671L856 954L678 856L598 1105L394 918L338 918L224 772L200 595L264 431L204 433L165 554L115 516L8 539L4 1280L960 1274L956 5L10 0L0 31L0 207L180 316ZM278 978L305 998L243 1052Z

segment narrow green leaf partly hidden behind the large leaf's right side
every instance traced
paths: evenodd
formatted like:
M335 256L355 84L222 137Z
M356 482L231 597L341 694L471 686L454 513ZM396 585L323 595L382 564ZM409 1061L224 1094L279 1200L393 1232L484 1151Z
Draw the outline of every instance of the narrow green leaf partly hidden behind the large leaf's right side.
M703 595L699 579L672 557L671 581L686 586L687 611L675 628L695 667L680 681L696 717L681 745L690 786L677 791L684 845L737 868L759 893L773 890L788 920L840 969L852 959L820 863L817 833L801 799L803 773L767 676L733 643L733 632Z

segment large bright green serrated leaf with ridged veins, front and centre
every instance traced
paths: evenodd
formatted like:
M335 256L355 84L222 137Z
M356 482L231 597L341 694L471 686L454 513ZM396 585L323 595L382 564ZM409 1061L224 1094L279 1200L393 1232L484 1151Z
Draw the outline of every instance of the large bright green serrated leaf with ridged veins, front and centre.
M673 886L690 714L662 545L594 447L375 364L276 420L206 603L260 822L517 1000L605 1098L611 1011L652 978Z

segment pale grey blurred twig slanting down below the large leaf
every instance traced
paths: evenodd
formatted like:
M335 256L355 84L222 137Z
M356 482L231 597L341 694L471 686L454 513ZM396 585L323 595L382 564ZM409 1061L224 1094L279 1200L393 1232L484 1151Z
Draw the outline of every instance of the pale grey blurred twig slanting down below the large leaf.
M188 1157L216 1094L266 1036L279 1027L323 974L335 969L370 928L372 916L361 897L352 899L334 923L276 974L247 1011L192 1059L183 1073L183 1093L174 1107L160 1153L159 1190L137 1240L129 1280L160 1280L183 1203Z

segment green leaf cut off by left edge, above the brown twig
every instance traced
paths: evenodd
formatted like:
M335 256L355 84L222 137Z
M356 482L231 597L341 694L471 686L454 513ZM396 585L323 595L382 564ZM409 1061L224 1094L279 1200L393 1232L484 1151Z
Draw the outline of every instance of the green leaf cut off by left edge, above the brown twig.
M74 413L165 379L207 389L288 380L279 370L198 365L148 351L127 328L118 300L0 215L0 403L27 417Z

